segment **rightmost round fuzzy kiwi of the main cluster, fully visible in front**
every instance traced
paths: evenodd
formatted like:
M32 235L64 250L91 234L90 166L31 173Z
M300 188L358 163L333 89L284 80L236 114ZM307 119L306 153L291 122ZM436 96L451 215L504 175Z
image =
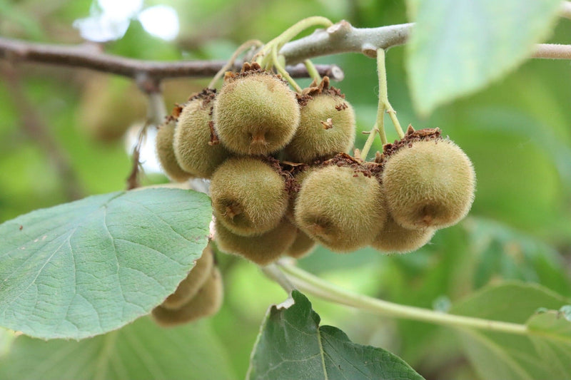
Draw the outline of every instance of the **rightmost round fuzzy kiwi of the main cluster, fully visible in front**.
M450 140L416 141L383 170L390 214L409 229L455 225L470 210L475 183L470 158Z

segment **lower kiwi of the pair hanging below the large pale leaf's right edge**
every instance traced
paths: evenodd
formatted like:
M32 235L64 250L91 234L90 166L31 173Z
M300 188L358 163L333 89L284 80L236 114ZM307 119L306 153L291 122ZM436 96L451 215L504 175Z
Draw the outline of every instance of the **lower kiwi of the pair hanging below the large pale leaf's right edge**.
M222 276L217 267L212 267L206 282L198 289L192 299L182 304L178 309L158 306L153 309L151 315L155 322L162 327L176 327L216 314L222 306L222 301Z

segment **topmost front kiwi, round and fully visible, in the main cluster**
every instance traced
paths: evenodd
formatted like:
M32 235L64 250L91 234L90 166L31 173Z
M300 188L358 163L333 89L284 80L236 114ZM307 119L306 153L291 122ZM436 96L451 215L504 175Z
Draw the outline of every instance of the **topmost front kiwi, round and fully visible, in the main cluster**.
M253 74L226 81L213 109L223 145L241 155L268 155L290 142L300 111L293 91L276 76Z

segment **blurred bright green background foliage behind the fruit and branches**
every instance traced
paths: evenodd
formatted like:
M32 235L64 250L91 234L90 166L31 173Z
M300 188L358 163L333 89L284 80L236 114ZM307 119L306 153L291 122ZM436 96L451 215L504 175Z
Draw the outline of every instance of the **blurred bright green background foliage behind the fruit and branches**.
M0 35L51 43L81 43L74 20L89 15L90 0L0 0ZM216 0L146 1L178 11L181 34L165 42L150 36L138 21L126 35L104 44L105 51L152 60L228 58L251 38L268 41L307 16L354 26L374 27L407 20L403 1L392 0ZM568 41L571 21L561 20L550 38ZM571 68L569 61L527 61L502 80L473 96L438 109L430 118L415 115L406 86L404 49L387 55L390 102L400 123L439 127L473 160L477 192L470 217L438 232L427 247L410 255L383 256L373 250L335 255L318 248L300 266L348 289L392 302L432 308L458 300L490 282L521 279L571 296ZM377 105L375 61L357 54L323 57L345 72L338 86L358 113L360 130L370 130ZM493 64L493 63L490 63ZM0 73L6 62L0 61ZM9 70L13 70L10 68ZM26 104L16 104L13 88L0 80L0 222L39 207L68 202L66 183L37 135L26 128L26 113L37 115L70 163L82 195L121 190L131 160L121 139L94 140L81 120L81 108L106 104L86 100L89 81L101 74L71 68L19 63L18 86ZM121 82L123 79L113 78ZM204 86L183 79L166 83L168 107ZM126 128L145 118L136 86L116 84L113 109ZM101 91L101 97L113 93ZM186 95L185 95L186 94ZM138 99L134 101L133 99ZM23 111L24 110L24 111ZM111 118L112 120L113 118ZM91 120L89 120L91 122ZM390 127L390 124L387 123ZM396 134L388 131L389 140ZM358 135L356 146L365 141ZM380 143L373 149L380 150ZM144 183L164 182L149 175ZM226 351L231 371L243 378L264 310L285 293L254 265L218 255L226 287L223 309L208 324ZM313 299L324 324L339 327L358 344L388 349L427 378L477 379L450 330L420 322L386 319ZM236 332L239 332L237 334ZM0 341L1 341L0 337ZM4 342L4 341L3 341ZM8 341L6 341L8 342ZM203 344L188 342L188 344ZM218 343L216 343L218 344ZM3 350L0 350L0 355Z

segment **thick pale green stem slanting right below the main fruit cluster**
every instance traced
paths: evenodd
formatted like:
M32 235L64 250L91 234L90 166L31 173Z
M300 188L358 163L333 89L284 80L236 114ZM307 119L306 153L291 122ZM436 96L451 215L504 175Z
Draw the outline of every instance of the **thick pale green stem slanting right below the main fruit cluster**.
M313 294L331 302L356 307L358 309L363 309L386 317L413 319L415 321L429 322L444 326L505 332L517 335L532 333L527 329L525 324L464 317L461 315L435 312L421 307L395 304L393 302L383 301L382 299L376 299L342 289L335 284L331 284L330 282L326 282L313 274L305 272L303 269L295 267L295 265L278 262L278 267L280 267L280 269L286 274L286 277L289 278L290 282L295 285L295 288L300 291L308 292L309 294Z

